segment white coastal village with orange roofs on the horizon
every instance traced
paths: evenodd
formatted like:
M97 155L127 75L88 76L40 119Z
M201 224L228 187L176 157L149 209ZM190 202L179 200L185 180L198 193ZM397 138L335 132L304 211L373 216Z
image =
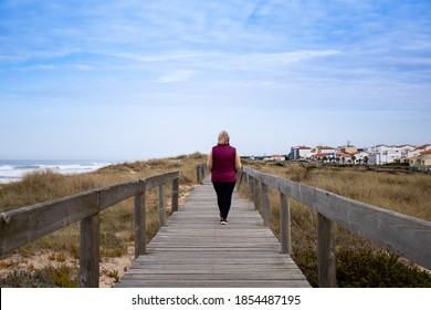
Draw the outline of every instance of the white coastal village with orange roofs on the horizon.
M418 168L431 168L431 144L414 146L379 144L359 148L349 142L344 146L293 146L287 155L248 156L262 161L304 161L340 165L385 165L399 163Z

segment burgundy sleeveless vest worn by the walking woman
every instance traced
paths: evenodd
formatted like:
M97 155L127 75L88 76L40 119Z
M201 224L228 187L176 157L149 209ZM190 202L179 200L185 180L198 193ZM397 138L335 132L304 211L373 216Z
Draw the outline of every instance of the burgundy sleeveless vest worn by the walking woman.
M236 182L236 149L229 144L212 147L211 182Z

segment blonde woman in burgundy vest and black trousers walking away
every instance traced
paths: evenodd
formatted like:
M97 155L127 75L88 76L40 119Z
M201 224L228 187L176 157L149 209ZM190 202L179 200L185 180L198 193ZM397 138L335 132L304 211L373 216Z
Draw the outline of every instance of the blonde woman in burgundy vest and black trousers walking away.
M220 224L227 225L236 173L242 168L242 165L236 149L229 144L229 134L225 131L219 134L218 144L212 147L207 165L211 172L211 182L217 193Z

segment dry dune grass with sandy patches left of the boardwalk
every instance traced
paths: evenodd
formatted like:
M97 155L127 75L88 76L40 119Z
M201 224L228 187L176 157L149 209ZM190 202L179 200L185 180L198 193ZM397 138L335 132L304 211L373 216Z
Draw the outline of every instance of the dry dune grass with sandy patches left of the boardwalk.
M124 163L80 175L60 175L50 170L27 175L22 182L0 188L0 211L34 205L85 190L105 187L122 182L153 176L166 172L180 172L180 206L196 185L196 166L206 161L206 155L196 153L172 158ZM170 190L167 211L170 211ZM101 213L101 286L112 285L127 270L134 256L134 200L118 203ZM147 193L147 240L158 231L158 192ZM59 265L56 257L65 257ZM0 287L8 286L62 286L76 283L80 257L78 224L50 234L0 260ZM117 268L118 264L123 264ZM113 267L114 266L114 267ZM57 272L54 272L57 270ZM60 272L60 273L59 273ZM46 278L45 283L41 279ZM111 278L106 280L106 278ZM20 281L20 279L24 279ZM34 280L32 282L32 279Z

